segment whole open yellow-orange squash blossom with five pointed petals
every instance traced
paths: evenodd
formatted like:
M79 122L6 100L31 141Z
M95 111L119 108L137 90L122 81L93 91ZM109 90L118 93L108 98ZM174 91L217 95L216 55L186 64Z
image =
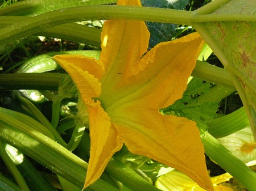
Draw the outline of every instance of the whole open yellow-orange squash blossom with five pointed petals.
M141 6L138 0L117 4ZM149 36L144 22L109 20L101 33L100 60L53 57L71 75L89 113L91 147L84 188L101 176L125 143L134 154L174 167L213 190L196 123L159 113L182 97L203 40L192 33L147 52Z

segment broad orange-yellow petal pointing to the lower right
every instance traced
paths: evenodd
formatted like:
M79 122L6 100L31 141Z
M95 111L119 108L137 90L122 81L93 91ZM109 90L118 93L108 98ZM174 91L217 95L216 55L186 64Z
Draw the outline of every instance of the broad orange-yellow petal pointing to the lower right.
M176 168L202 188L213 190L195 122L163 116L155 109L127 107L119 108L110 117L131 152Z

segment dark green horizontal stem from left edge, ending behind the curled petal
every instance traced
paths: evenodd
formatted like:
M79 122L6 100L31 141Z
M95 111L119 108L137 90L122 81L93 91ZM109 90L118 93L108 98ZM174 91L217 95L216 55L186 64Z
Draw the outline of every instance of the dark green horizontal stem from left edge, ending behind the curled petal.
M0 90L59 90L60 81L67 74L31 73L1 74Z

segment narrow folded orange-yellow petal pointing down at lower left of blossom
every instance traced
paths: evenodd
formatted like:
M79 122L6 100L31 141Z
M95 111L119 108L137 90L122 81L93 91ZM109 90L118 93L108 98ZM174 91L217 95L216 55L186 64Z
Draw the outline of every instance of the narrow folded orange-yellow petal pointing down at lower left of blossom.
M90 122L90 159L84 188L100 178L113 154L123 145L100 102L88 107Z

